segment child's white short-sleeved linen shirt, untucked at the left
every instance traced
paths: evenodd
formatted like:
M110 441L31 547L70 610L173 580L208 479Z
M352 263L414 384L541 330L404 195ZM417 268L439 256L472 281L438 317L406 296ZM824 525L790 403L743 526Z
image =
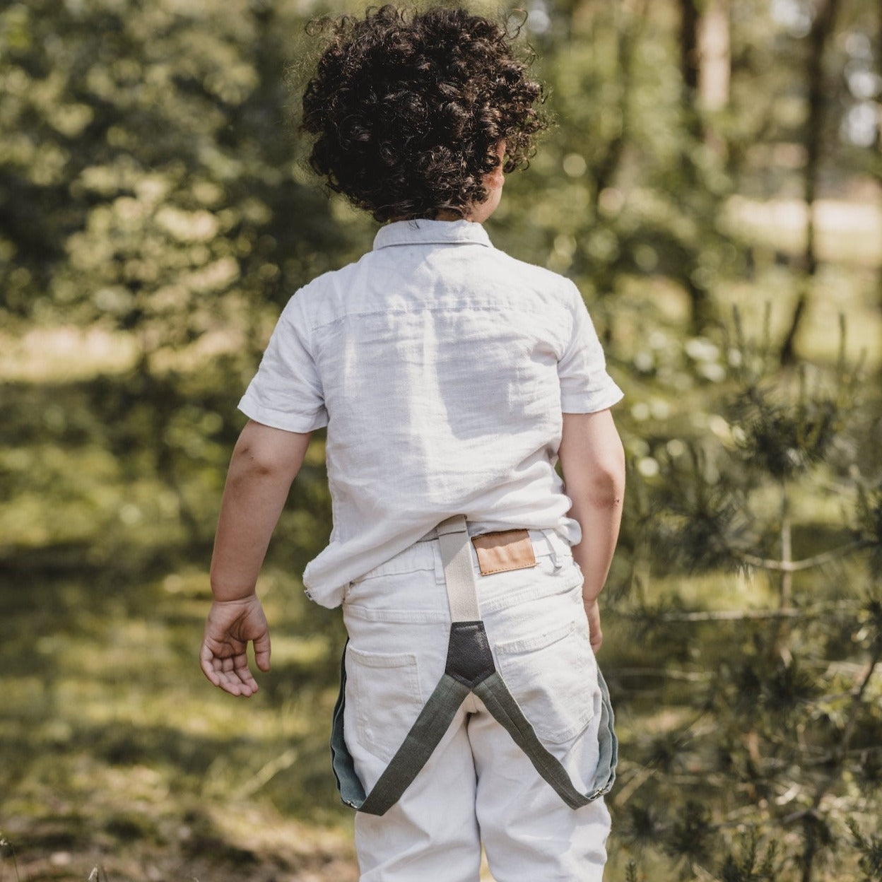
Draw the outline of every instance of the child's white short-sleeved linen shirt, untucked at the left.
M578 288L509 257L471 221L396 221L373 250L300 288L239 408L327 426L333 530L307 565L310 598L348 583L453 514L473 534L579 523L555 471L562 413L622 392Z

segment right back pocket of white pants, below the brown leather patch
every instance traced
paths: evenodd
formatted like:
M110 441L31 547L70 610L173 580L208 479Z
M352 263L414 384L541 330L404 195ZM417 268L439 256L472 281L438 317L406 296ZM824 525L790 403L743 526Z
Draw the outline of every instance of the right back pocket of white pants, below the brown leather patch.
M568 622L526 639L497 643L499 672L548 744L581 734L594 717L597 673L587 626Z

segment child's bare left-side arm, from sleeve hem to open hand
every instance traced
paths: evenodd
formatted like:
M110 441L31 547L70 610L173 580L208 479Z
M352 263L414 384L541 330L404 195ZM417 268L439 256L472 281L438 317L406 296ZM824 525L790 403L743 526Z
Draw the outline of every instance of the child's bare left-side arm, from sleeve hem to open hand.
M249 421L230 460L214 539L214 602L199 662L208 679L231 695L250 696L258 690L248 667L250 640L258 668L270 667L269 627L255 584L310 434Z

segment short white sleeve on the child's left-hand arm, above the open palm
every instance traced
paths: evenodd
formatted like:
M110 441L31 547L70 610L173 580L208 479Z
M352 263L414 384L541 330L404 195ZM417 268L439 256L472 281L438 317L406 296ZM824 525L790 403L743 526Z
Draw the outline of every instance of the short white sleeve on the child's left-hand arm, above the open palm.
M244 415L290 432L310 432L327 425L325 396L309 340L302 298L294 295L282 310L258 372L239 402Z

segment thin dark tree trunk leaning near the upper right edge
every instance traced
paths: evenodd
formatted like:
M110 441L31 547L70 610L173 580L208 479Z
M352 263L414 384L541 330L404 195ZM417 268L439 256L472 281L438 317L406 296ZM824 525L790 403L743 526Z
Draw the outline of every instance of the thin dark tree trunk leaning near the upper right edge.
M820 169L822 136L824 128L824 50L836 26L836 14L840 0L819 0L815 19L809 32L809 56L805 74L809 87L809 113L805 125L805 170L803 191L808 221L805 231L805 253L803 284L799 286L796 306L790 319L790 326L781 344L781 364L796 361L796 335L799 333L806 310L810 306L811 288L818 272L818 258L815 243L815 199L818 193L818 171Z

